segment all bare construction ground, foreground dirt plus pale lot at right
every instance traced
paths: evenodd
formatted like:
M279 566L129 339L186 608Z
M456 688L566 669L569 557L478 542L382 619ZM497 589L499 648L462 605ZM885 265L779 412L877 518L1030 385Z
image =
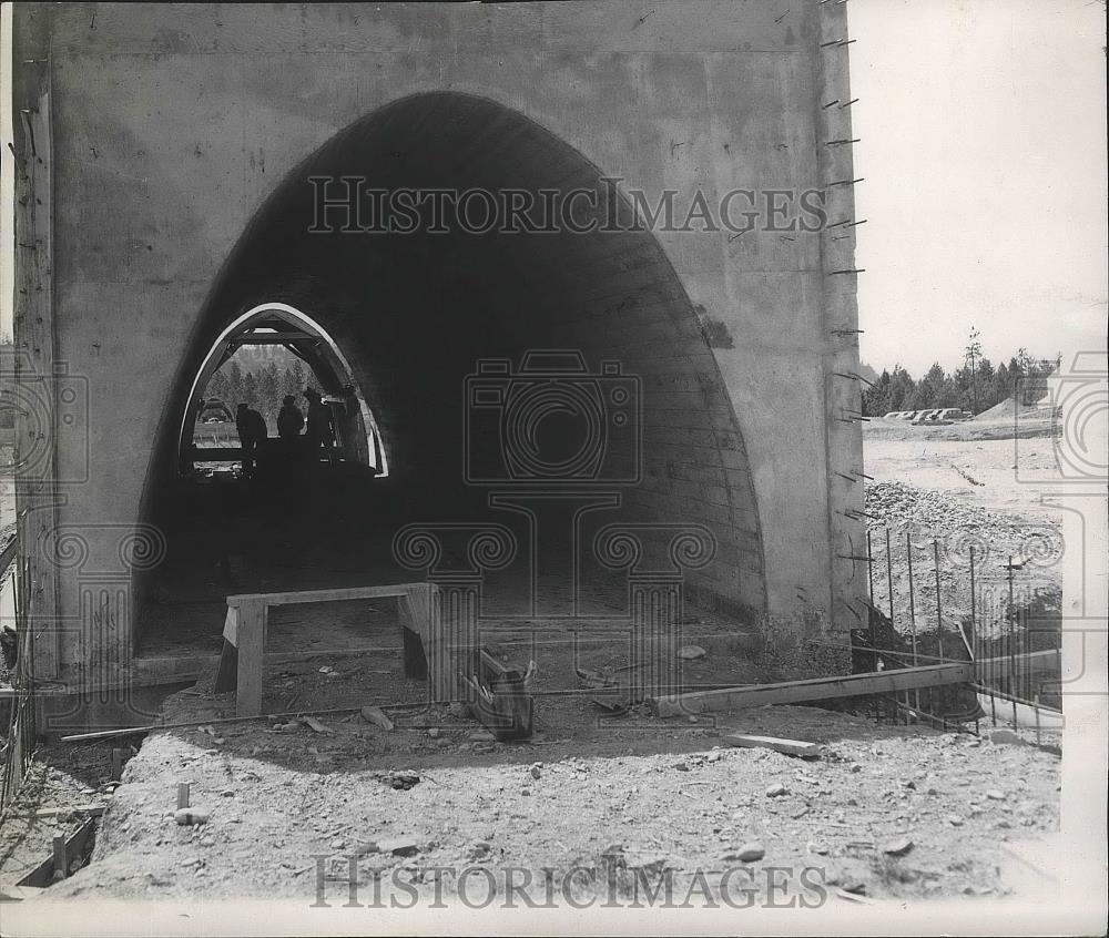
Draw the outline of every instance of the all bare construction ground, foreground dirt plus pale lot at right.
M906 432L867 436L866 471L878 497L868 510L885 512L883 524L912 521L922 542L958 537L960 518L991 542L1020 543L1025 526L1057 528L1035 483L1015 480L1011 438ZM1050 440L1019 442L1041 445L1021 458L1049 481ZM947 529L934 531L942 522ZM1007 555L1009 542L993 549ZM1057 589L1050 563L1032 565ZM960 583L953 574L956 606ZM899 594L896 581L894 589ZM782 680L743 663L744 641L702 624L706 654L690 664L696 680ZM739 867L755 903L767 898L771 867L793 870L792 895L814 899L818 883L827 903L1028 899L1050 886L1042 870L1058 860L1060 761L1030 732L990 738L989 726L976 736L815 706L695 722L643 710L607 716L583 696L550 694L537 699L530 742L496 743L457 707L419 706L420 684L404 679L398 654L384 663L332 661L316 648L269 669L264 706L277 713L405 702L389 711L391 731L356 710L319 715L322 728L289 725L289 717L220 723L233 701L202 681L169 699L163 714L200 727L40 751L0 829L0 883L18 881L49 857L53 835L80 820L35 810L92 803L106 806L92 861L51 886L50 898L279 896L311 904L324 888L340 905L350 856L364 890L376 881L404 895L406 886L425 897L438 889L448 899L458 874L474 867L491 877L467 877L464 888L478 898L488 881L503 889L512 869L531 871L541 895L543 868L558 876L576 867L596 871L577 876L576 896L612 888L627 896L665 875L679 897L700 888L700 877L719 899L722 888L730 885L733 896L740 888L728 874ZM587 663L614 667L621 660ZM820 754L732 747L724 736L734 732L818 743ZM1061 741L1045 731L1040 742ZM126 750L115 787L111 751L131 743L138 751ZM190 803L206 823L175 822L180 783L190 784ZM805 868L814 873L803 881ZM372 896L363 893L362 901Z

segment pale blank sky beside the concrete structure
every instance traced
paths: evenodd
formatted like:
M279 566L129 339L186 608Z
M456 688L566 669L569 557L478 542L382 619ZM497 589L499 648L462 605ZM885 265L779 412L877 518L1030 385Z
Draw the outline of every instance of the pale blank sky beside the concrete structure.
M849 0L848 19L863 360L953 369L971 325L995 360L1103 349L1102 1ZM7 101L2 137L7 156Z

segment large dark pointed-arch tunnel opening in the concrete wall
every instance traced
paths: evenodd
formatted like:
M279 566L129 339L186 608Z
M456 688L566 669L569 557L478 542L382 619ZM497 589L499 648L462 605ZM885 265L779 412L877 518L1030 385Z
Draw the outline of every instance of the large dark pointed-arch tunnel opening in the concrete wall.
M455 92L388 104L293 170L213 285L164 409L142 516L167 551L135 583L140 655L218 651L233 593L460 575L490 635L511 633L532 657L559 648L571 680L582 650L611 646L606 630L632 614L637 578L663 591L680 579L685 605L715 616L734 650L765 610L755 493L733 401L653 234L478 231L437 225L427 206L408 231L349 225L352 179L381 193L608 191L539 123ZM322 205L337 223L321 225ZM228 343L293 328L342 349L342 368L324 361L330 387L358 389L383 471L322 463L292 495L197 486L196 401ZM309 359L306 340L293 345ZM414 526L434 529L434 551L408 550ZM689 528L710 547L683 565L672 534ZM489 539L507 560L482 552ZM322 622L288 641L307 648ZM358 616L347 622L354 648ZM622 660L610 651L597 653Z

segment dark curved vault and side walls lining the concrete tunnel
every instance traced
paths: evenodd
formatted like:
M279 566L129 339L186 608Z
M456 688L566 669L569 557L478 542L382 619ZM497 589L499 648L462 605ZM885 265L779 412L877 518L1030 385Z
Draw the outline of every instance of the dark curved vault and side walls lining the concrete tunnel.
M706 528L715 554L688 581L690 599L742 620L763 612L762 534L739 402L655 237L647 231L314 231L318 196L309 179L344 176L381 191L568 193L602 185L598 167L540 124L455 92L421 93L374 111L289 173L225 262L177 367L142 501L143 520L166 532L169 559L160 579L136 584L140 609L172 600L174 589L187 591L167 585L182 582L174 563L210 550L250 554L251 537L255 546L268 537L250 533L262 510L256 504L243 509L238 529L228 529L242 506L200 491L181 476L177 457L194 384L221 334L251 310L281 304L318 324L342 350L390 463L388 478L348 472L328 483L323 501L306 507L286 540L278 538L277 553L302 557L319 548L326 554L293 574L298 588L365 581L379 570L391 581L416 579L410 571L388 572L388 544L408 522L505 521L506 512L488 501L501 489L466 475L467 446L482 449L479 462L505 457L496 435L467 436L467 378L481 361L510 363L513 375L528 353L573 350L590 374L615 363L620 375L639 381L634 434L614 431L608 404L601 406L607 451L589 477L591 490L612 489L606 473L623 472L613 466L639 459L641 467L634 483L621 476L619 510L598 518ZM580 427L560 419L556 414L545 425L548 437L554 450L572 450ZM202 504L208 507L197 509ZM218 546L226 538L235 543ZM281 562L234 569L233 559L230 568L226 555L217 560L227 580L216 578L217 592L230 591L231 581L240 592L273 582L291 588L289 568ZM139 619L144 631L141 623L153 621Z

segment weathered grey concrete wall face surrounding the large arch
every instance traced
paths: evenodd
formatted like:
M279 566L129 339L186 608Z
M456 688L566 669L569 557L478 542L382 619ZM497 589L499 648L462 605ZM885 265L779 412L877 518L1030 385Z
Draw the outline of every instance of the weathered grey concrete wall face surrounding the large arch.
M63 440L57 471L79 479L88 459L93 485L68 490L60 520L124 531L111 526L139 517L221 266L294 166L389 102L488 99L625 188L676 190L679 204L698 190L713 203L734 187L851 180L849 145L827 145L851 137L849 108L824 106L849 101L844 7L790 6L18 10L19 81L50 89L55 355L89 388L88 448ZM32 59L48 61L20 64ZM832 221L852 217L851 187L828 194ZM858 389L835 377L857 364L854 275L831 274L854 266L851 231L658 235L689 298L732 339L713 355L757 502L762 560L749 573L762 582L745 594L764 590L782 629L842 631L865 590L837 559L861 534L842 513L862 507L861 485L837 475L862 467ZM93 538L104 557L82 569L115 569L112 537ZM75 621L73 595L59 601Z

